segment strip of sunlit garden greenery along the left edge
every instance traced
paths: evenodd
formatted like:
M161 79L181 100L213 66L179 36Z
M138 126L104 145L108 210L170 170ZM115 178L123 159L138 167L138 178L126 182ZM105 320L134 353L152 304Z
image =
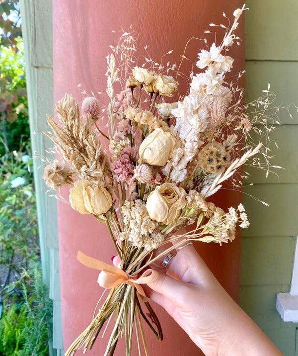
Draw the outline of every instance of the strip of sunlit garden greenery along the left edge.
M0 355L49 355L24 48L17 0L0 0Z

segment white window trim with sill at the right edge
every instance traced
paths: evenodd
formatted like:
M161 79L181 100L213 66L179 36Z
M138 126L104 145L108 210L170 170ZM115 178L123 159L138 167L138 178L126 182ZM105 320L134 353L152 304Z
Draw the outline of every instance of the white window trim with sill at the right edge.
M298 238L297 238L298 239ZM294 256L291 290L288 293L278 293L276 309L285 322L298 323L298 243Z

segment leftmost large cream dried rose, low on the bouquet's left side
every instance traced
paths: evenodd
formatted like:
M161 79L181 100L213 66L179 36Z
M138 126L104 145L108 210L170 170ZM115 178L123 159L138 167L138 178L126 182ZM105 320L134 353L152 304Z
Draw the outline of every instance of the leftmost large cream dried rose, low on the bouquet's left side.
M102 215L112 206L112 197L103 182L80 179L70 189L70 203L80 214Z

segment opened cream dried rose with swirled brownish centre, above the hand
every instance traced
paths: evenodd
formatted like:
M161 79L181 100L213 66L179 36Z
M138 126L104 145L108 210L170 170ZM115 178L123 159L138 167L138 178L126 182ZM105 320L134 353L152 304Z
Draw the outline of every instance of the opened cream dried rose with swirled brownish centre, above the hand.
M186 206L186 191L174 183L163 183L149 194L146 208L152 220L166 225L174 222Z

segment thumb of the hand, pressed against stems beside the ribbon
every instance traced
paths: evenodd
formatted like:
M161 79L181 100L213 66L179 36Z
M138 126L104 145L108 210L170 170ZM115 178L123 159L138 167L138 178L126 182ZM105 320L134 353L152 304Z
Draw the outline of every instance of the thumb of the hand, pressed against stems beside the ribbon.
M176 305L183 302L184 296L188 292L188 285L186 283L160 272L158 272L158 277L154 281L147 283L147 285Z

